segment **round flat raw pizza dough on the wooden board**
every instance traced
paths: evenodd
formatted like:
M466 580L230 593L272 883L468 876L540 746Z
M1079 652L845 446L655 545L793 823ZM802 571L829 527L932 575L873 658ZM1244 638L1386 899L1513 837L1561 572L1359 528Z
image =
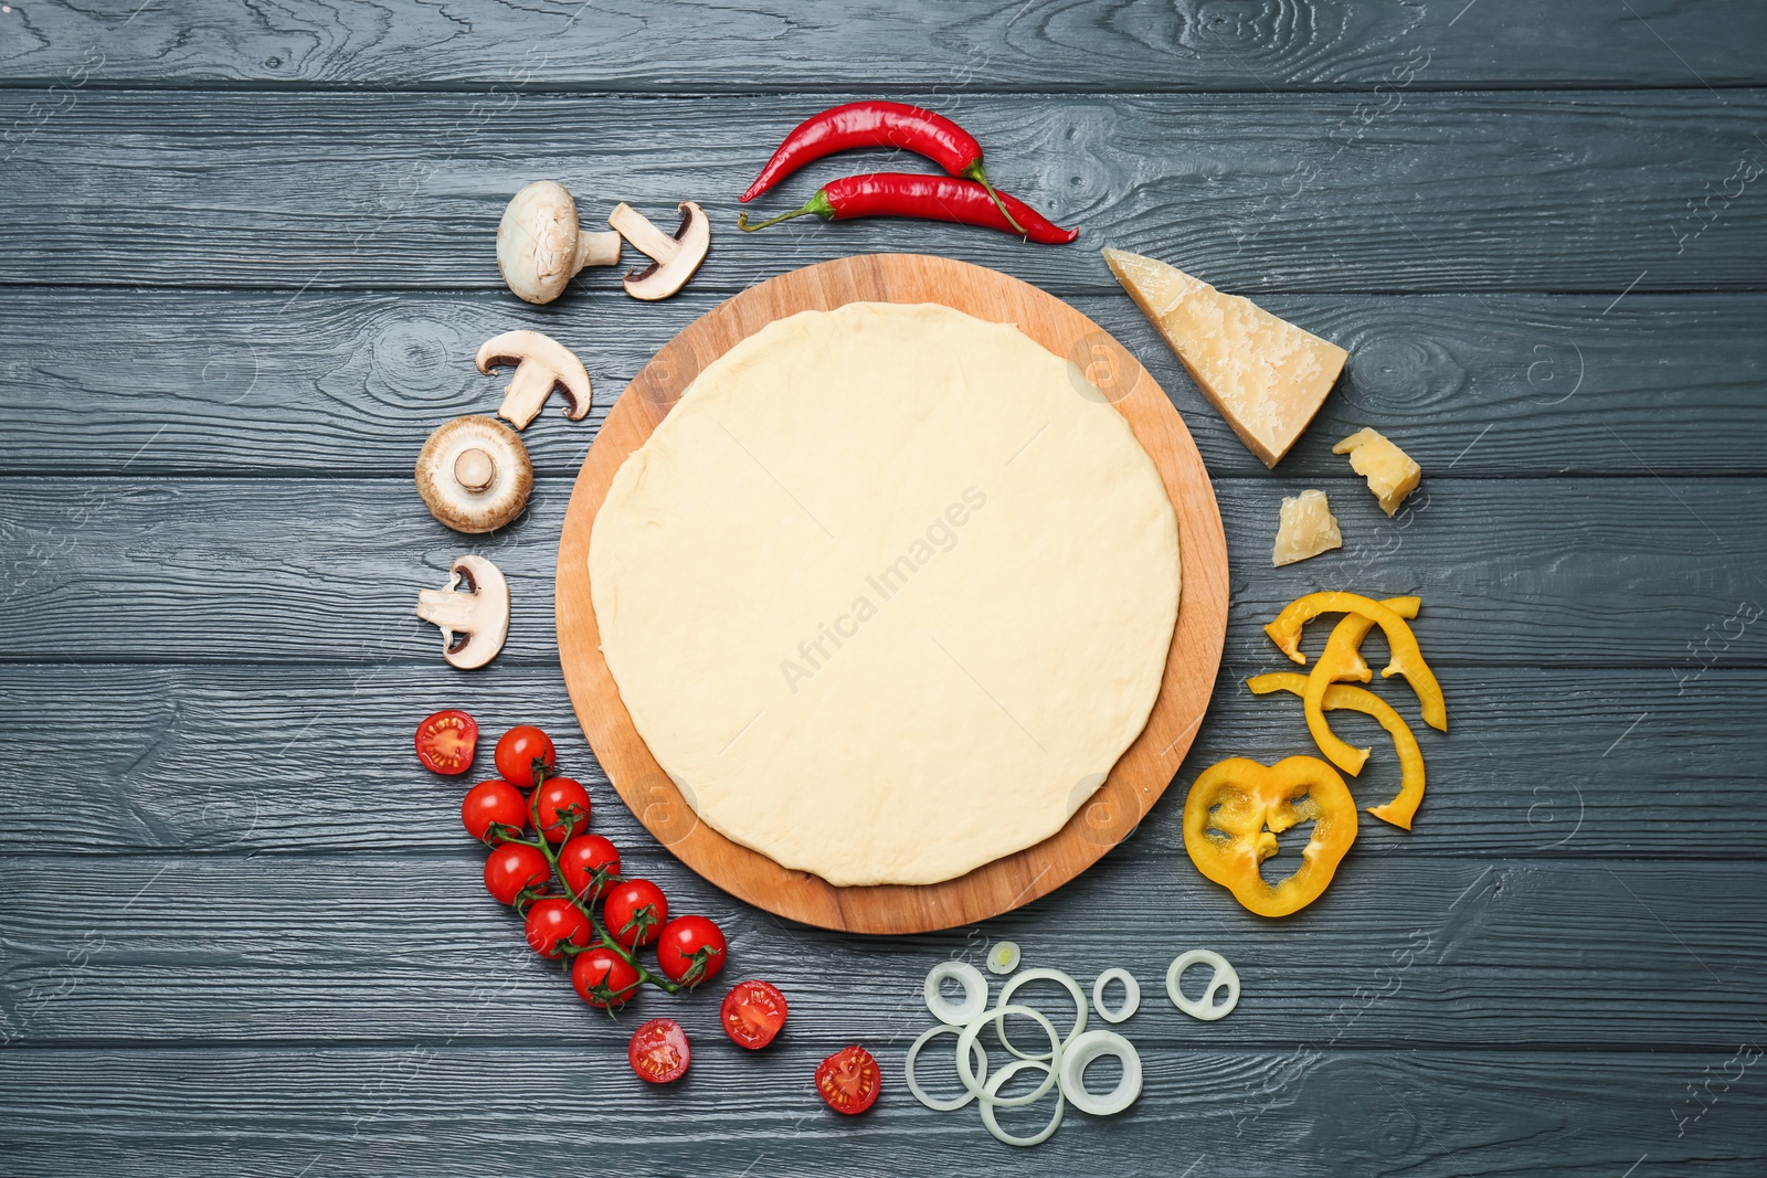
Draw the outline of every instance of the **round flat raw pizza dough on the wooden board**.
M620 466L601 648L717 832L834 885L1039 842L1147 722L1179 532L1124 419L937 304L769 323Z

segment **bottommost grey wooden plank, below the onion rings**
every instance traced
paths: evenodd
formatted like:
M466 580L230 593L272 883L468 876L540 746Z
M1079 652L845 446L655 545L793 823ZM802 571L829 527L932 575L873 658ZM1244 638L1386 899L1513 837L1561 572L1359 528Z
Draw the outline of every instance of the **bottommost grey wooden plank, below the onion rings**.
M1131 1037L1141 1017L1127 1024ZM1649 1157L1654 1169L1638 1174L1755 1178L1767 1160L1758 1060L1742 1079L1714 1083L1709 1104L1687 1095L1687 1084L1726 1063L1740 1067L1735 1044L1587 1061L1430 1049L1329 1051L1309 1061L1293 1051L1223 1051L1219 1026L1193 1031L1186 1049L1145 1051L1143 1093L1127 1113L1097 1120L1069 1109L1028 1157L988 1137L974 1107L940 1114L915 1104L901 1083L905 1044L882 1051L876 1107L834 1123L809 1074L823 1044L845 1042L838 1033L762 1053L701 1038L687 1077L659 1091L627 1070L624 1035L618 1053L590 1051L606 1028L509 1047L449 1046L442 1031L360 1049L7 1051L0 1153L21 1176L65 1174L78 1155L94 1171L180 1178L293 1178L304 1166L325 1174L574 1173L587 1164L871 1178L951 1173L954 1157L986 1174L1035 1167L1126 1178L1172 1178L1186 1166L1235 1178L1615 1178ZM929 1053L928 1076L931 1067ZM1677 1137L1673 1118L1700 1107ZM1035 1132L1048 1113L1039 1104L1000 1120Z

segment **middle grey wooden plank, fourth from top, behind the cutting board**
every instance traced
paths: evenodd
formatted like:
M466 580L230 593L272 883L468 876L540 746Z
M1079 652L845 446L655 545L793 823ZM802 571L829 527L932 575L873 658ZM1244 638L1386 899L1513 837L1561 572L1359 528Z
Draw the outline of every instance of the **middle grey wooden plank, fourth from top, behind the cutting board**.
M1345 547L1270 569L1279 500L1308 484L1327 489ZM475 551L514 593L502 662L551 664L569 491L539 479L521 519L470 539L433 521L406 479L7 479L0 657L428 664L438 638L412 616L415 593ZM1437 666L1620 664L1661 678L1767 666L1755 623L1767 484L1755 479L1442 479L1394 519L1354 477L1217 479L1216 495L1235 671L1274 662L1258 627L1315 588L1422 595L1417 632Z

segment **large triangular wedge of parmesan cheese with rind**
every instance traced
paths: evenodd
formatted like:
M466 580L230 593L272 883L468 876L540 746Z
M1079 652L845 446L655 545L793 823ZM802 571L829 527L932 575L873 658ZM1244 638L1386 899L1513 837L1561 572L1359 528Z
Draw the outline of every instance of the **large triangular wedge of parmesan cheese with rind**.
M1276 466L1350 353L1164 261L1106 249L1104 263L1239 440Z

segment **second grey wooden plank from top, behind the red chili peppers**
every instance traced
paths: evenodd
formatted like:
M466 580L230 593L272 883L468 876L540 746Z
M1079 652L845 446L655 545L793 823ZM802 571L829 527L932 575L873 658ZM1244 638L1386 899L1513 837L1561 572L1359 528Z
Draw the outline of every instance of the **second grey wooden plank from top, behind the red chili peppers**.
M703 201L701 291L878 249L1057 293L1115 291L1103 244L1239 293L1760 290L1767 258L1755 90L965 99L991 175L1085 226L1069 247L887 221L737 233L733 198L800 97L87 90L37 122L46 101L0 92L0 125L30 127L0 284L491 290L497 219L539 177L588 217ZM769 208L868 164L822 161Z

